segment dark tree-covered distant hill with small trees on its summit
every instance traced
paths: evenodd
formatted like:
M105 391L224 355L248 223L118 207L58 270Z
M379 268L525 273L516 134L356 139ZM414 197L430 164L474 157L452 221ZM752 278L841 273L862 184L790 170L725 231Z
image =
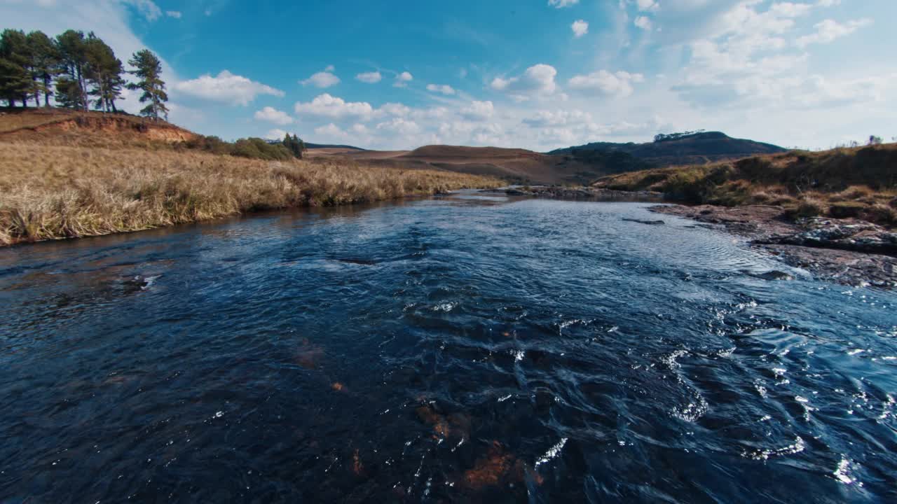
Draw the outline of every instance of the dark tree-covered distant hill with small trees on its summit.
M578 159L594 157L595 152L623 152L658 167L704 164L745 158L758 154L787 152L778 145L732 138L724 133L697 132L684 135L658 135L650 143L595 142L548 152Z

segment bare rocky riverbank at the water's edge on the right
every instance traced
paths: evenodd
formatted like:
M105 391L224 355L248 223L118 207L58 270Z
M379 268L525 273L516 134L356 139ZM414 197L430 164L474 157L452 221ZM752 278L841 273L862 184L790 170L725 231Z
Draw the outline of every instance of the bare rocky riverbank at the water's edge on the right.
M849 285L897 287L897 232L857 219L792 221L783 208L664 205L651 209L728 230L788 265Z

